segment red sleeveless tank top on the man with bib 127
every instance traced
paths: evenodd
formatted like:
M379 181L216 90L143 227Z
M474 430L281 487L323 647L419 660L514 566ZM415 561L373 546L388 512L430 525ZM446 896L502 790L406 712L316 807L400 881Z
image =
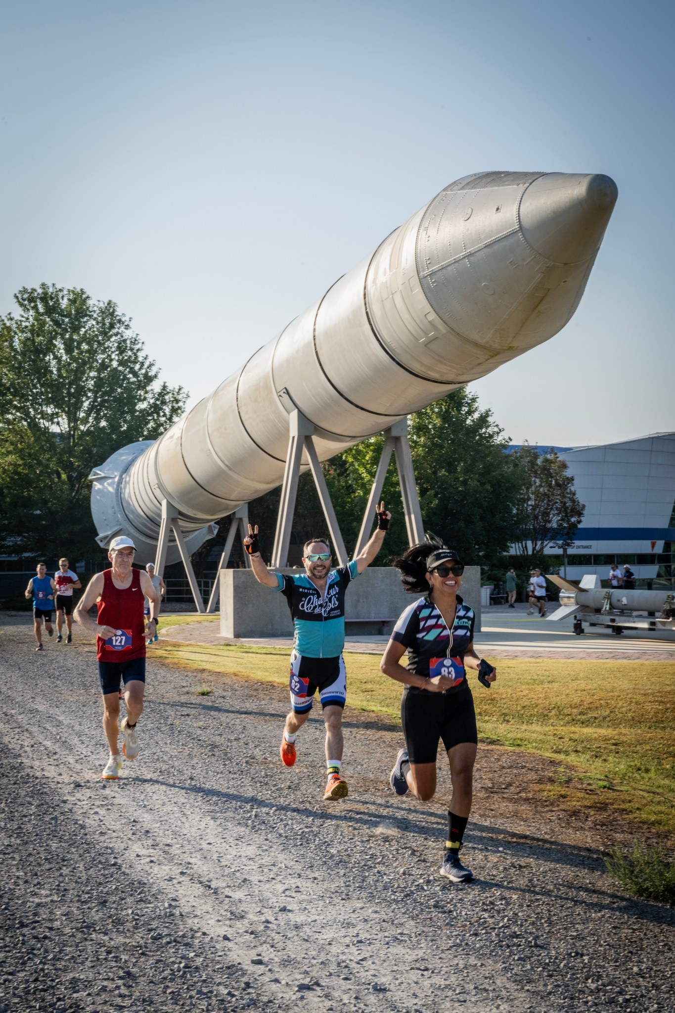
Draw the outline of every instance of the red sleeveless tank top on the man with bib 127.
M107 640L96 637L99 661L131 661L146 656L146 625L143 616L145 595L141 591L140 570L132 570L129 588L115 588L112 570L103 570L103 594L98 603L99 626L116 631Z

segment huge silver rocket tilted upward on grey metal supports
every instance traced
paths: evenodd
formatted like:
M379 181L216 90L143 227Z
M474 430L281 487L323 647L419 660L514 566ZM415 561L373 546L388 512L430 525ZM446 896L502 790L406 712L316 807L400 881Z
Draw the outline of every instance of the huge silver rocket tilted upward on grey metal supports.
M615 200L604 175L446 186L164 436L94 469L97 540L123 533L154 558L167 499L194 551L212 522L280 484L293 405L326 460L547 340L579 304Z

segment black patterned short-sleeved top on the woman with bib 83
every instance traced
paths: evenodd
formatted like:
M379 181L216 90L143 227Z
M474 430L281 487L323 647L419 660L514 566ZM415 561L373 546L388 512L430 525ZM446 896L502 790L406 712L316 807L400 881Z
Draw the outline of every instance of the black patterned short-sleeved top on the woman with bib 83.
M394 627L392 639L408 650L409 672L417 676L448 676L454 679L455 693L463 689L467 673L463 659L469 644L474 639L476 614L457 595L457 611L452 629L448 630L436 606L427 597L410 605ZM411 693L425 693L416 686L407 686Z

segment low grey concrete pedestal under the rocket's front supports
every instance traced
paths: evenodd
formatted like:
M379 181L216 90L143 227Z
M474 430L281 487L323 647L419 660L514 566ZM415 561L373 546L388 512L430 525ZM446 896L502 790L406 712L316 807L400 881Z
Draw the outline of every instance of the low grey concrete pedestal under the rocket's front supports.
M299 573L283 569L281 573ZM481 628L481 567L468 566L461 579L461 597L476 612ZM399 571L392 566L368 566L347 588L347 636L391 633L394 622L415 596L403 590ZM283 595L258 583L251 570L221 570L221 635L227 637L290 636L292 622Z

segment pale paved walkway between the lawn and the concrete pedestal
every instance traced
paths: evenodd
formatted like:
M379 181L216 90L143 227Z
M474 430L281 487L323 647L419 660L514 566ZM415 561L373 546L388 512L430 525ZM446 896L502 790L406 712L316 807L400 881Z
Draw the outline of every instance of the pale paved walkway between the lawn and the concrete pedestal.
M290 637L235 639L221 636L220 619L181 623L162 633L162 639L198 644L248 644L290 649ZM388 636L347 637L345 650L381 654ZM675 661L675 634L626 630L620 637L604 630L575 636L572 620L552 623L528 616L525 606L483 610L483 629L476 634L481 653L491 657L568 658L620 661Z

